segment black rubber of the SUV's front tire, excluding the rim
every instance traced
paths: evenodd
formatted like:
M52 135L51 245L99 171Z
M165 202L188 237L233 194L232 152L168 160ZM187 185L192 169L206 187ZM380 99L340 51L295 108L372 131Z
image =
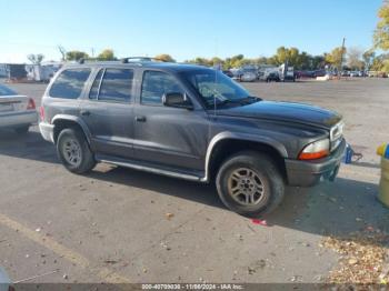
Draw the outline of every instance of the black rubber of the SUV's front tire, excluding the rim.
M261 197L258 198L259 202L256 204L243 205L237 201L238 198L232 198L232 194L229 191L231 179L233 180L232 173L236 173L240 169L253 171L261 182L260 184L262 185L263 192L261 195L256 193ZM242 187L240 183L238 184ZM249 218L258 218L270 213L281 203L285 194L285 180L276 163L268 155L253 151L240 152L225 161L217 174L216 187L221 201L229 209ZM233 189L237 188L238 185ZM241 197L245 199L245 193L238 197L239 199Z

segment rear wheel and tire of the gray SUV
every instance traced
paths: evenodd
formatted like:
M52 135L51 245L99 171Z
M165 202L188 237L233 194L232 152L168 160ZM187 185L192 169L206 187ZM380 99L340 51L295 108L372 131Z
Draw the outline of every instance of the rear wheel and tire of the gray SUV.
M96 165L94 155L80 130L63 129L57 140L57 154L72 173L87 173Z

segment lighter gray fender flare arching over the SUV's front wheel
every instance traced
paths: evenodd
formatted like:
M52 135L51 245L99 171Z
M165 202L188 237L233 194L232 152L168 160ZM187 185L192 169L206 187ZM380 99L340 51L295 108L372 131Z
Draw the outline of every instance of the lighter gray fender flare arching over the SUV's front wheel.
M205 182L209 181L209 167L210 167L210 159L212 157L213 150L219 144L219 142L222 142L225 140L245 140L245 141L252 141L252 142L259 142L263 143L266 146L270 146L276 151L279 152L279 154L283 158L288 158L288 151L285 148L285 146L269 137L258 136L258 134L250 134L250 133L237 133L237 132L228 132L223 131L215 136L211 141L209 142L208 149L207 149L207 155L206 155L206 168L205 168L205 178L201 180Z

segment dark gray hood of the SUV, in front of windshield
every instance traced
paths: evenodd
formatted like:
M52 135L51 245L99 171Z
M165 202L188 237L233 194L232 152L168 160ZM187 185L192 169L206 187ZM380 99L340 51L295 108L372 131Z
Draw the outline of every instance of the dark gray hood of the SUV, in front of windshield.
M337 112L319 107L273 101L260 101L249 106L222 109L218 110L217 114L303 123L325 129L330 129L342 119Z

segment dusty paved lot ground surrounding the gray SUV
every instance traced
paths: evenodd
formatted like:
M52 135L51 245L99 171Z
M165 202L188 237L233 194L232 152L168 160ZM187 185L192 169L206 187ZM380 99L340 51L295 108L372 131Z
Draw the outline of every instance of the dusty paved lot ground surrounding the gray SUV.
M211 187L107 164L73 175L37 128L0 132L0 265L16 281L51 272L33 282L319 282L339 259L323 235L388 230L375 150L389 141L389 81L245 86L341 112L365 158L335 183L288 189L266 227L225 209ZM44 90L12 87L38 103Z

